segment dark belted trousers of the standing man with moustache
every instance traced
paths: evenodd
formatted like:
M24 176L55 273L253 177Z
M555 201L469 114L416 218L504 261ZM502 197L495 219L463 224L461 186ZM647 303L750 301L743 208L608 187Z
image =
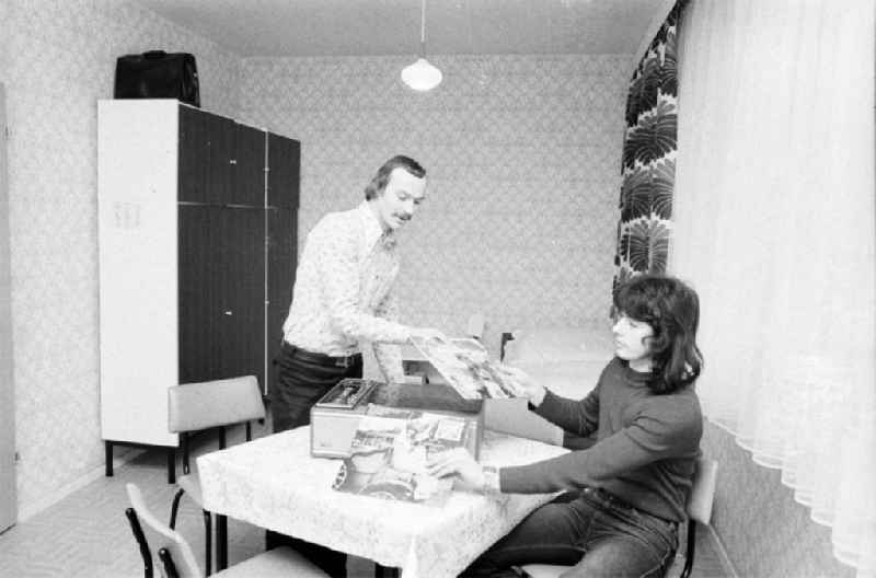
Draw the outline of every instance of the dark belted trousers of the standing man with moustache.
M310 408L320 397L345 378L362 377L360 355L332 358L285 342L276 362L277 383L270 398L275 432L307 426L310 424ZM347 575L346 554L268 530L265 535L267 550L279 545L297 550L328 576L344 578Z

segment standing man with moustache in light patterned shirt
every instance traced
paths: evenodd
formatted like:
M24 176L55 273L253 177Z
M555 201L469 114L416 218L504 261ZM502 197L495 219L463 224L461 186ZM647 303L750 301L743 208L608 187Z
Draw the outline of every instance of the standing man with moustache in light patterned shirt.
M373 344L387 381L403 377L397 344L437 330L395 321L396 233L426 198L426 171L393 157L365 188L358 207L331 212L308 234L292 304L283 325L274 431L310 423L311 406L344 378L361 378L361 342Z

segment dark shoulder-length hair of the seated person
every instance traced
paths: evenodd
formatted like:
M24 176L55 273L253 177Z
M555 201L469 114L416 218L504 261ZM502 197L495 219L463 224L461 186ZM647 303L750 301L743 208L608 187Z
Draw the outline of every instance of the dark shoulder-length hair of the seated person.
M700 298L681 280L665 275L638 275L622 285L614 311L647 323L655 393L671 393L700 375L703 355L696 346Z

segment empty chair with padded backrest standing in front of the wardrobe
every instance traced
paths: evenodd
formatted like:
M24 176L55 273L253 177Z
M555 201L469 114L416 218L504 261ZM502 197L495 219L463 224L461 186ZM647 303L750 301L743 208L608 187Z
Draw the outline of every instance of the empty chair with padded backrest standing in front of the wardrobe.
M265 418L262 391L254 375L200 383L185 383L168 388L168 428L180 434L183 451L183 475L176 479L180 490L171 506L170 528L176 527L180 498L188 496L200 507L204 516L206 544L206 574L210 575L212 560L211 513L204 509L200 482L189 469L188 434L205 429L219 429L219 449L226 447L226 427L245 424L246 441L252 439L252 421Z

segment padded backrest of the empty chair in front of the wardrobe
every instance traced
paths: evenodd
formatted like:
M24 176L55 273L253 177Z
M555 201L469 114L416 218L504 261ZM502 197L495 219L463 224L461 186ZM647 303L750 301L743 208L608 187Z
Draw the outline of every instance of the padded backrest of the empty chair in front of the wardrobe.
M174 434L264 417L265 404L254 375L168 388L168 428Z

